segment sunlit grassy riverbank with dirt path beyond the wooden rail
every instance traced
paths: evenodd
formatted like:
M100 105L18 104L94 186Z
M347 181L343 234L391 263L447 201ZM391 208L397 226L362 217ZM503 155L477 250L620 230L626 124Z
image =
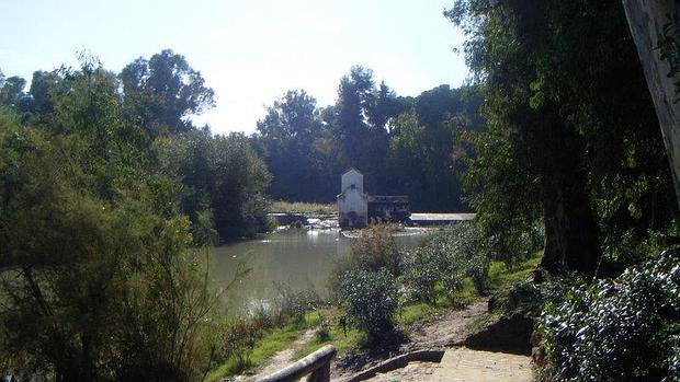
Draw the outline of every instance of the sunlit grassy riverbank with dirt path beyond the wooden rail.
M508 268L500 262L492 262L489 267L489 293L509 289L531 276L540 261L540 253ZM363 346L365 337L356 329L340 325L340 310L337 308L319 309L308 312L305 324L275 329L257 342L250 356L251 364L247 370L238 371L229 362L208 374L207 381L250 381L264 377L274 366L285 364L317 350L327 344L338 349L338 357L332 362L333 379L345 379L355 372L377 364L394 356L419 349L444 348L462 343L466 337L479 331L486 323L494 321L496 313L487 311L488 297L479 296L472 279L464 281L451 304L447 299L438 300L437 304L409 303L401 306L397 315L398 331L404 339L390 351L376 352Z

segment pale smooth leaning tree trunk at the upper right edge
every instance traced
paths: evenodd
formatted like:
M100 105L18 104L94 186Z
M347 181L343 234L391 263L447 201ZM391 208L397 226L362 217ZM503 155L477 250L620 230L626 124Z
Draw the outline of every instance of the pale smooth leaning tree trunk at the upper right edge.
M680 102L673 102L676 86L668 77L671 63L661 60L658 49L664 25L672 22L680 27L680 3L678 0L623 0L623 7L659 118L680 207Z

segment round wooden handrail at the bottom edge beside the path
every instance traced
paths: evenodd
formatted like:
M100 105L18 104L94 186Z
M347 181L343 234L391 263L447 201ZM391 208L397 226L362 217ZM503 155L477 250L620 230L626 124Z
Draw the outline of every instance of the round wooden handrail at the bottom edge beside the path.
M264 377L258 382L293 382L309 374L307 382L329 382L330 360L336 355L332 345L326 345L299 361Z

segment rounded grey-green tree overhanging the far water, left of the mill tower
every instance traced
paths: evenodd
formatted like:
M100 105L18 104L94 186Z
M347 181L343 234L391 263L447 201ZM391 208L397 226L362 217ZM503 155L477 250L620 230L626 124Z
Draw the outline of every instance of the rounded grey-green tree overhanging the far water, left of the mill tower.
M160 169L184 185L181 210L194 224L196 244L212 238L202 228L211 221L222 240L267 230L270 174L246 137L195 130L158 140L156 148Z

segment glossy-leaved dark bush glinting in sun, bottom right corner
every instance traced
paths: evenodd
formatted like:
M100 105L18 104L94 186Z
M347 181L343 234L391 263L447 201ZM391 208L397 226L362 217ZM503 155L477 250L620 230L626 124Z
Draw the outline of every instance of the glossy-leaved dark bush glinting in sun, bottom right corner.
M665 253L616 280L548 299L539 321L548 373L577 381L680 379L680 259Z

